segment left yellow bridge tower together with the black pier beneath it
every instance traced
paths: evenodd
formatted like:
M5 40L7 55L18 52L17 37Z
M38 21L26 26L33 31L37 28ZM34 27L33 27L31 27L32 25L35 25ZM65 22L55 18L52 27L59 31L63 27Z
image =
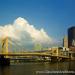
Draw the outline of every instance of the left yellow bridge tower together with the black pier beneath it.
M1 42L2 54L8 54L8 37L3 38ZM0 66L10 65L10 58L7 55L0 55Z

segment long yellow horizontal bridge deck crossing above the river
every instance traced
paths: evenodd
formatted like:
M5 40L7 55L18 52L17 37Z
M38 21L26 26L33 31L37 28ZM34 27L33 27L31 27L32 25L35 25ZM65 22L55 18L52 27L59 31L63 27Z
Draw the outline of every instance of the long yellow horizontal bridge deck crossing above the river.
M46 56L46 57L60 57L60 58L69 58L69 56L55 56L47 53L0 53L0 56Z

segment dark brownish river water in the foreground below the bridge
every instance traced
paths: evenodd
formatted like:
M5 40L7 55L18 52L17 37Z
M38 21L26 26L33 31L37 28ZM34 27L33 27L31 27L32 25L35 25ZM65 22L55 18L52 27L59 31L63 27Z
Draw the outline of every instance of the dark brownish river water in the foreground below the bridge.
M0 67L0 75L71 75L74 72L75 61L26 62Z

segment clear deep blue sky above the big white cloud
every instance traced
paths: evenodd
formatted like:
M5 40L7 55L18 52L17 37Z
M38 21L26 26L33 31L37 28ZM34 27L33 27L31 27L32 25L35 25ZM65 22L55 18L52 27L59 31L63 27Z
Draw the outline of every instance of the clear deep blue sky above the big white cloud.
M0 25L13 23L17 17L62 39L75 26L75 0L0 0Z

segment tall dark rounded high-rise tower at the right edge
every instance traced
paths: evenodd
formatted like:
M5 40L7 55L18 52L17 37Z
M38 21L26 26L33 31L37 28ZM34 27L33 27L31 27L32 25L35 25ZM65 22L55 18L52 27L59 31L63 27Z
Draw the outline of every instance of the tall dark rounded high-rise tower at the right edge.
M75 26L68 29L68 47L75 47Z

